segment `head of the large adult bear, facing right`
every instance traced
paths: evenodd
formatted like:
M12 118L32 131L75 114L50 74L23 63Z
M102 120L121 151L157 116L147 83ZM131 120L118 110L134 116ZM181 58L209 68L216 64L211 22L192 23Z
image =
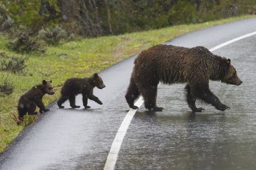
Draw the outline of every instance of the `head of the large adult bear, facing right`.
M227 62L228 69L227 69L226 76L221 80L221 82L239 86L240 84L242 84L242 81L237 76L237 71L235 70L233 65L231 65L230 59L227 59L226 62Z

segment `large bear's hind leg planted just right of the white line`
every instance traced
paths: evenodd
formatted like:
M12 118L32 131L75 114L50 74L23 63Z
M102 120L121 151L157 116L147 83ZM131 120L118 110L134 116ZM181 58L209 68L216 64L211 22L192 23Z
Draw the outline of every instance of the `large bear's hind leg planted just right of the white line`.
M163 111L163 107L156 106L157 98L157 85L151 85L150 87L143 88L142 96L145 101L145 107L150 111Z

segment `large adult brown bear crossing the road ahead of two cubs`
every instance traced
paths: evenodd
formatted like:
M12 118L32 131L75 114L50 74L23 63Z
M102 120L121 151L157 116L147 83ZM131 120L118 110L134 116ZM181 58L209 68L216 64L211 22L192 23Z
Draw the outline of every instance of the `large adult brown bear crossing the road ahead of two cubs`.
M212 104L217 110L230 108L210 91L209 80L238 86L242 83L230 59L214 55L203 46L156 45L142 51L134 60L125 98L132 109L138 109L134 100L142 94L148 110L162 111L163 107L156 106L159 82L169 85L186 83L187 103L193 112L204 111L204 108L196 107L196 99Z

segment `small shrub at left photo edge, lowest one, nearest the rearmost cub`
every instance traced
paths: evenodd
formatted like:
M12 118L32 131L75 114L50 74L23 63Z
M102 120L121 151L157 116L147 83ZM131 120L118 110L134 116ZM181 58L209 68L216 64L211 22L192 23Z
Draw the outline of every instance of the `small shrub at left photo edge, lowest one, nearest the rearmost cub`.
M0 96L5 97L14 92L14 85L9 77L0 78Z

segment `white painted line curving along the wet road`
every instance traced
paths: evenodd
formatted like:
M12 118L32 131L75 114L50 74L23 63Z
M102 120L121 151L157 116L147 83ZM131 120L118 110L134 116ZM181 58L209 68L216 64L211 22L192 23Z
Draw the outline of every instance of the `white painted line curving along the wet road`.
M210 49L210 51L215 51L217 49L220 49L223 46L226 46L228 44L237 42L240 39L244 39L246 37L250 37L250 36L253 36L253 35L256 35L256 31L252 32L252 33L248 33L244 36L240 36L240 37L231 39L231 40L229 40L229 41L227 41L223 44L220 44L218 46L213 47L212 49ZM140 107L140 106L142 106L143 103L144 103L143 98L142 98L142 96L140 96L139 99L136 101L135 105ZM121 126L119 127L119 129L117 131L116 137L114 138L114 141L113 141L112 146L110 148L109 155L107 155L107 160L106 160L106 163L105 163L105 166L104 166L104 170L113 170L114 169L114 166L116 165L116 162L117 162L117 157L118 157L120 147L121 147L123 139L125 137L125 133L126 133L128 127L129 127L129 125L132 121L132 118L133 118L134 114L136 113L136 111L137 110L130 109L130 111L127 112Z

